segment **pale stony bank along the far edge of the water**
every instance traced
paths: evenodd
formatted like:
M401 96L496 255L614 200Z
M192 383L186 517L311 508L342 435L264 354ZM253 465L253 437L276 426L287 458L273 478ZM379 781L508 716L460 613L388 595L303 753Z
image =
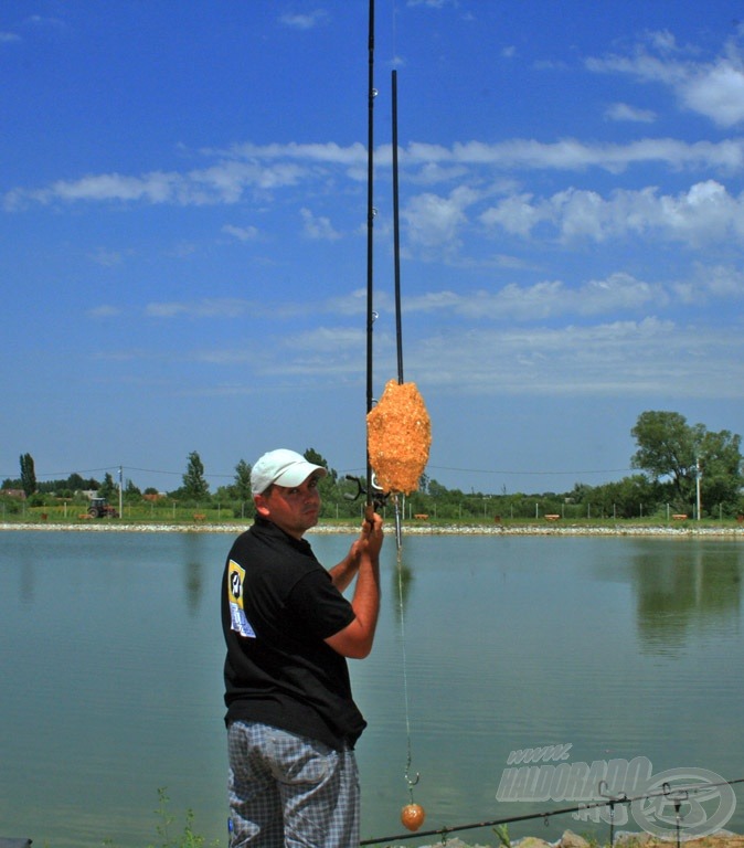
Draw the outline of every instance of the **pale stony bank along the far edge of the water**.
M0 531L41 531L41 532L105 532L105 533L230 533L237 536L249 527L244 523L126 523L97 521L86 523L56 522L2 522ZM357 533L358 526L349 523L320 523L309 533L337 534ZM385 526L386 533L394 533L392 522ZM741 539L744 540L744 527L695 527L685 523L681 527L658 524L606 524L584 526L551 522L550 524L424 524L404 523L405 536L606 536L606 537L662 537L669 539Z

